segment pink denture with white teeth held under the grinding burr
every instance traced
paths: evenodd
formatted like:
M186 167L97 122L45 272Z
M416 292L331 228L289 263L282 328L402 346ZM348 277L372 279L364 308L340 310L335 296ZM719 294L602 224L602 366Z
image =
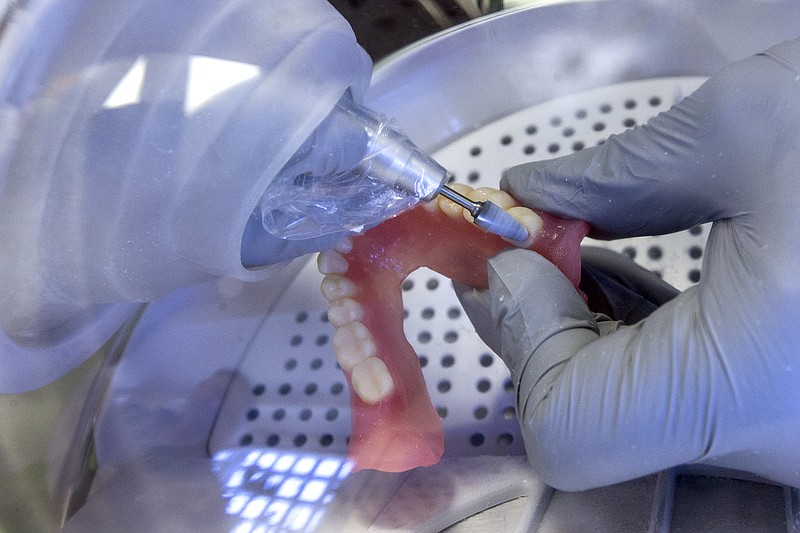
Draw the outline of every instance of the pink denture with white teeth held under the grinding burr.
M436 464L444 452L441 419L403 331L406 276L424 266L486 288L487 260L521 246L542 254L578 286L585 222L535 213L496 189L452 187L506 209L528 229L528 241L510 243L489 234L471 224L460 206L440 198L319 255L322 293L335 327L332 344L350 387L349 456L355 470L402 472Z

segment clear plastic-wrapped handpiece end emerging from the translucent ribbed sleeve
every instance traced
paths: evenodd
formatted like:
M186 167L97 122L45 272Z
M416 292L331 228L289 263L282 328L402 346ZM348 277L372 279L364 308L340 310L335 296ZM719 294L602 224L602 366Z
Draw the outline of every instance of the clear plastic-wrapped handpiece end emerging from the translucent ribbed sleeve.
M284 239L360 232L433 198L447 171L386 117L345 95L256 208Z

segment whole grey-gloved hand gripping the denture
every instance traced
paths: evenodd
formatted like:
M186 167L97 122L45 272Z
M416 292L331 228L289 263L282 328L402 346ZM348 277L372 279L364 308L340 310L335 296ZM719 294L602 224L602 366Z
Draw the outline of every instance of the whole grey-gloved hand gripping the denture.
M647 125L508 170L525 205L620 238L709 221L700 283L633 326L537 254L460 291L511 370L529 458L582 490L686 463L800 486L800 40L713 76Z

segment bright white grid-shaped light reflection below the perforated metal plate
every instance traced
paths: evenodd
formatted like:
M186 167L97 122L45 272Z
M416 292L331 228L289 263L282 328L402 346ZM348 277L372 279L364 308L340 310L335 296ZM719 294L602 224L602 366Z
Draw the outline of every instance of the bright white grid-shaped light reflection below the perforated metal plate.
M213 458L227 500L242 519L232 533L316 529L352 464L344 457L277 450L225 450Z

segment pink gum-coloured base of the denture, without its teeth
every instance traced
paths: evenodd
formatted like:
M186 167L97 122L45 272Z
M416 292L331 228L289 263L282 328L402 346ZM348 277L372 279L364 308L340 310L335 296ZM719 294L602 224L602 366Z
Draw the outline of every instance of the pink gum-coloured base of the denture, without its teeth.
M541 214L544 226L532 249L555 264L577 287L580 242L585 222ZM402 282L428 267L478 288L487 286L487 260L511 245L462 218L417 207L353 239L346 255L346 277L355 282L354 297L365 310L364 325L374 337L395 389L376 403L362 401L350 375L351 460L355 469L402 472L436 464L444 452L444 433L428 396L422 369L403 332Z

